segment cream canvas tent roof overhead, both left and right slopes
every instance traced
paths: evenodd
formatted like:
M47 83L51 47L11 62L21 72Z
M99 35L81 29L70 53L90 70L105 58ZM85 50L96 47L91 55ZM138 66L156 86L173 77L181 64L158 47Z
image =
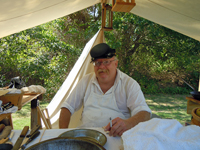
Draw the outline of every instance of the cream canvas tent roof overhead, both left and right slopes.
M0 0L0 38L69 15L101 0ZM108 0L112 3L111 0ZM200 40L199 0L135 0L140 17Z

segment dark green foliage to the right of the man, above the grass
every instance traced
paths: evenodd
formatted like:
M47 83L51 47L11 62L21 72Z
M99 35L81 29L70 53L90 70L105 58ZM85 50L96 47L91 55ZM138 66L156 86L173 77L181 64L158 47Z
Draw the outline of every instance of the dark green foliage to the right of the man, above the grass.
M188 93L178 77L198 86L199 41L131 13L115 12L113 27L105 36L117 50L119 68L145 93Z

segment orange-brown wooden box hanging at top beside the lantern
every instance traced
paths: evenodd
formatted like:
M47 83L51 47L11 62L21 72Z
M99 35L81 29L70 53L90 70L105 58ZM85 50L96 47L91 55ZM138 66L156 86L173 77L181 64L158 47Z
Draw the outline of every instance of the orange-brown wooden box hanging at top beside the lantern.
M112 11L130 12L135 5L135 0L112 0Z

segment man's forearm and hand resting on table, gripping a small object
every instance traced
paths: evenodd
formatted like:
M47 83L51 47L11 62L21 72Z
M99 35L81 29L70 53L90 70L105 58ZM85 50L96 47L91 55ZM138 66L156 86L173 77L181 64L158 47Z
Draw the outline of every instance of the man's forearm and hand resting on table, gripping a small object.
M110 128L110 123L105 127L105 131L110 131L110 136L121 136L125 131L136 126L140 122L144 122L150 119L151 114L147 111L140 111L136 115L130 117L129 119L121 119L119 117L112 120L112 128Z

